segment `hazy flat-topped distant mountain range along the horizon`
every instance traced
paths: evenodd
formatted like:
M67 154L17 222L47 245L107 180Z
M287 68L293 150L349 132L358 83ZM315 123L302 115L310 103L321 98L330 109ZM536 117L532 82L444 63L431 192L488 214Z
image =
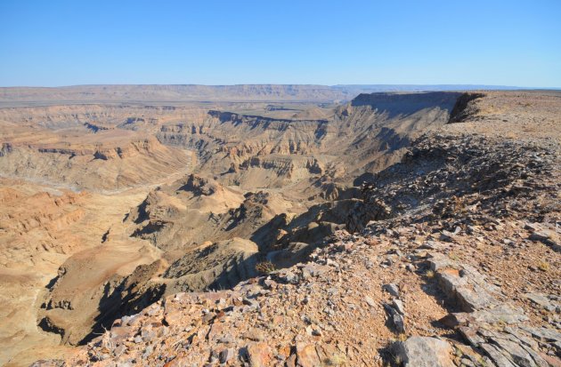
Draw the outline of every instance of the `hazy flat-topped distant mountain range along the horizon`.
M0 107L122 102L341 102L360 93L531 89L480 84L122 84L0 88Z

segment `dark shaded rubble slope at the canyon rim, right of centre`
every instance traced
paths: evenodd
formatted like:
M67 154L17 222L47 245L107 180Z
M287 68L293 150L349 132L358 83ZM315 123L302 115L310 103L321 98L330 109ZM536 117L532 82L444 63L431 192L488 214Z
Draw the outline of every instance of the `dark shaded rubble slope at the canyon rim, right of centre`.
M430 205L436 217L484 208L498 217L516 209L507 203L521 196L526 204L557 189L539 179L553 170L551 148L481 136L425 136L401 164L372 176L362 187L362 204L350 213L348 227L395 217ZM478 195L483 194L483 197ZM473 205L476 204L476 207ZM535 218L539 219L540 208ZM542 218L542 217L541 217Z

